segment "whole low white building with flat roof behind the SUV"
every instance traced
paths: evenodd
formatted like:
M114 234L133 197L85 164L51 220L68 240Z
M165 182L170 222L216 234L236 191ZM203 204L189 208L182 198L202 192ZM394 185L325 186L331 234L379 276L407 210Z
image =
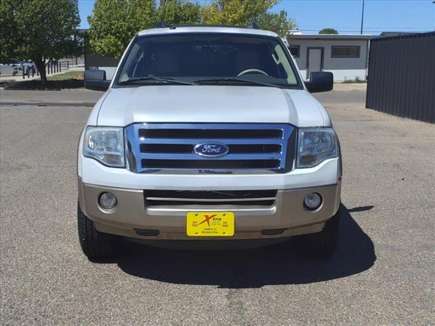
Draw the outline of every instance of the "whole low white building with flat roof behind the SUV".
M334 81L367 77L368 42L372 35L301 34L287 37L288 47L302 77L313 71L330 71Z

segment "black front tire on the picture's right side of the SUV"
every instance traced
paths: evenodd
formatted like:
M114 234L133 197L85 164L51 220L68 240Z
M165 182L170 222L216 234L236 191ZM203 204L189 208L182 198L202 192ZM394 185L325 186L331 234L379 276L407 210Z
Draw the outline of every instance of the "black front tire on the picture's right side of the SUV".
M340 229L340 212L337 213L328 222L321 232L296 236L295 245L303 256L309 258L329 258L337 249L338 233Z

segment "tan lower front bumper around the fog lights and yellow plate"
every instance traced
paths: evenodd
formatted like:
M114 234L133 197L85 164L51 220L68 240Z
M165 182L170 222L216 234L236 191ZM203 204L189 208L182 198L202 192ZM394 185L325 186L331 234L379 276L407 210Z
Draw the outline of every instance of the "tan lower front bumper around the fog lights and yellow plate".
M145 205L143 190L128 190L78 182L79 203L83 213L93 220L97 230L138 239L191 240L186 235L186 213L190 210L155 210ZM109 191L117 197L117 206L107 211L97 201L101 193ZM321 207L305 210L306 195L316 192L323 197ZM232 237L201 237L201 240L263 239L320 232L340 205L341 182L330 186L295 190L279 190L273 206L264 209L220 208L235 215L235 233ZM213 207L204 209L214 210ZM141 236L135 229L158 230L157 236ZM278 235L264 235L263 230L284 229ZM193 238L197 240L197 238Z

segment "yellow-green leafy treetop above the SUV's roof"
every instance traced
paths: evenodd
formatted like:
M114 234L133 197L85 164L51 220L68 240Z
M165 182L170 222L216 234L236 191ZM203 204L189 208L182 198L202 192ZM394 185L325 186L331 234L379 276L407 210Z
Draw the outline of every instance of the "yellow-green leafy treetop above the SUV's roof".
M202 8L204 24L245 26L280 0L216 0Z

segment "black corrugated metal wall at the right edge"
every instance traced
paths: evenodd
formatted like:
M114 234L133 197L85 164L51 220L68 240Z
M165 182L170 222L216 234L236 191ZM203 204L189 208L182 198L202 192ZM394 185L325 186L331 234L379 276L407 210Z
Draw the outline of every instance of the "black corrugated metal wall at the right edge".
M435 123L435 32L371 40L365 107Z

